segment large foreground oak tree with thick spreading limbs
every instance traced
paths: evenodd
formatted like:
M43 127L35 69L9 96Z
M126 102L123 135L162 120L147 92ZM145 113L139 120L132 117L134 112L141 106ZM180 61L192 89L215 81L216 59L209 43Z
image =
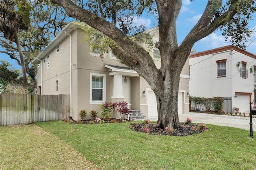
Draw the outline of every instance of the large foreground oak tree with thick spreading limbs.
M156 95L157 126L176 128L178 118L178 87L180 73L189 57L194 43L208 36L216 29L231 41L244 47L248 30L247 21L255 12L254 0L209 0L197 24L178 45L176 20L180 12L181 0L51 0L62 6L68 16L85 22L116 42L110 46L117 58L137 71L150 84ZM76 4L75 4L76 3ZM159 26L159 42L155 46L160 51L161 67L156 68L148 51L143 49L128 35L143 30L132 25L134 16L142 12L156 14Z

